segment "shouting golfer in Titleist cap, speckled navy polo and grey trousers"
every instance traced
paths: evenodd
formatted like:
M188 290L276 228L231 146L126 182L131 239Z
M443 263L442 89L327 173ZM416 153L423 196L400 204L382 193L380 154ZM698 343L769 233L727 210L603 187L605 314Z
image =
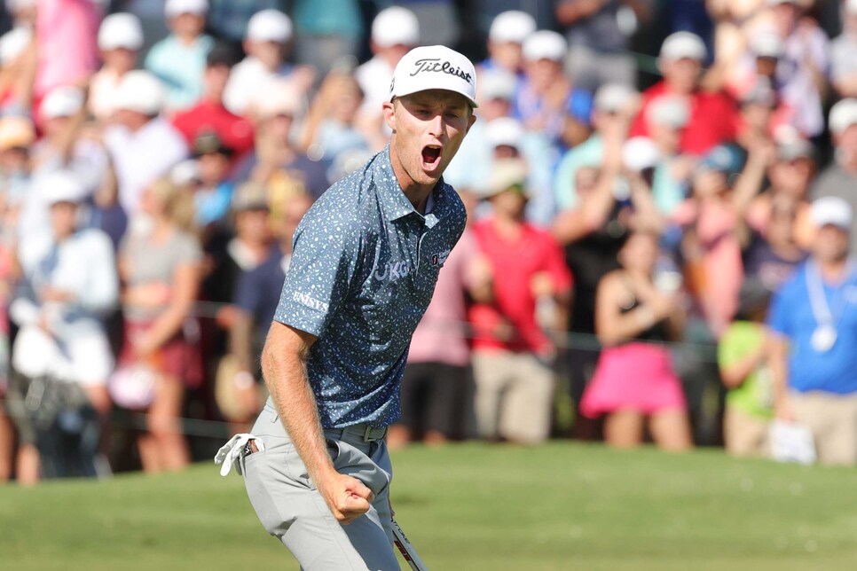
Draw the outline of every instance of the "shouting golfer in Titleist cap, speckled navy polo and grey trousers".
M304 569L399 568L384 436L411 335L464 231L441 175L476 121L475 93L460 53L408 52L383 104L389 145L295 232L262 353L271 398L240 466L264 528Z

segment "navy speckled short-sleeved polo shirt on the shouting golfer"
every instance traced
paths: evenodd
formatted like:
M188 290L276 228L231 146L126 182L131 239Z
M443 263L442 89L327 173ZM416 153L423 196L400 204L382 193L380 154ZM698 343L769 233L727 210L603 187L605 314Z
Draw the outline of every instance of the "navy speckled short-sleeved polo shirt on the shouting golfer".
M389 145L303 217L274 319L318 337L307 372L323 427L399 418L413 330L466 220L443 179L427 214L417 212L393 174Z

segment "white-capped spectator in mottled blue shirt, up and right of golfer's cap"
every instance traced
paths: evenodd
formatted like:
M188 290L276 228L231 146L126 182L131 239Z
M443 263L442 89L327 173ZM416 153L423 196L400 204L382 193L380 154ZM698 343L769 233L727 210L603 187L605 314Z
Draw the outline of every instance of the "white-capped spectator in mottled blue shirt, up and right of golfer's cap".
M567 50L562 35L548 30L524 40L524 79L514 113L526 129L544 131L552 142L572 147L589 137L592 96L562 73Z

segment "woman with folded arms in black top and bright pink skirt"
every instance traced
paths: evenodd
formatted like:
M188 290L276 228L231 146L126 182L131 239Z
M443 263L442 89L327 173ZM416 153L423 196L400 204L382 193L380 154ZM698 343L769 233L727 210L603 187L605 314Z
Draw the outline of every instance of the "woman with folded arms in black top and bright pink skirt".
M657 236L634 232L619 251L622 269L601 280L595 330L604 346L580 410L607 415L604 439L611 446L638 446L645 421L659 448L692 446L687 403L664 341L680 329L680 297L653 281Z

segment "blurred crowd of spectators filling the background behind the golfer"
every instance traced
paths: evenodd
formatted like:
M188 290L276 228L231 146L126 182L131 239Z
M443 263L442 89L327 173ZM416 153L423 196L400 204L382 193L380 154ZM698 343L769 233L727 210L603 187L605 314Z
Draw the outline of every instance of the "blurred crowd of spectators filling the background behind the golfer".
M776 418L857 464L857 1L6 0L0 24L0 481L177 469L210 451L188 419L248 430L295 228L433 43L479 62L444 174L468 230L391 446L769 456Z

